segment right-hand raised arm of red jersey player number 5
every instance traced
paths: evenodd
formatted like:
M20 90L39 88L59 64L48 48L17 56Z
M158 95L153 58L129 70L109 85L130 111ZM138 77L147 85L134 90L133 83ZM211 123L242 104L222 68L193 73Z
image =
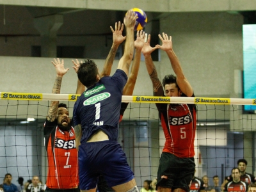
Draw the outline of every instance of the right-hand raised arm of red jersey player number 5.
M179 85L180 90L188 97L191 97L193 95L193 88L189 84L188 79L186 79L186 77L184 76L180 61L177 58L175 52L173 51L172 36L168 38L168 35L166 33L163 33L163 37L161 35L158 36L162 41L162 45L156 45L156 47L159 47L167 53L168 58L170 59L172 64L173 71L177 76L177 84Z

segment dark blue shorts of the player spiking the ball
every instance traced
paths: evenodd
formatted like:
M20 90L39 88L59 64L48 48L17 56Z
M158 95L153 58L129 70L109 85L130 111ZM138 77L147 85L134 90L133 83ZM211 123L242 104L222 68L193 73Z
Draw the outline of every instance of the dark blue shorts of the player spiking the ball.
M79 188L94 189L103 175L109 187L134 179L124 151L116 141L83 143L79 146Z

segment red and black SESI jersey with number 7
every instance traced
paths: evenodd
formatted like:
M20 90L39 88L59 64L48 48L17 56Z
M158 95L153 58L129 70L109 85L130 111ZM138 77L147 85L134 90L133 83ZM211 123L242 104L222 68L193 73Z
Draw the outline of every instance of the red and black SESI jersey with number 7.
M57 120L44 124L45 149L48 159L46 186L51 189L72 189L79 185L78 156L74 128L63 131Z

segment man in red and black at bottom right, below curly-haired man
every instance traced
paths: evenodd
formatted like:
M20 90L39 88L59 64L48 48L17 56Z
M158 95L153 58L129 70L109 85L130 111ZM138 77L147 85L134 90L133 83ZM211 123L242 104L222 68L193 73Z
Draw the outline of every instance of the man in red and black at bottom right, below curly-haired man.
M225 184L223 191L241 191L245 192L248 184L245 182L241 181L241 173L238 168L233 168L232 169L232 181L228 182Z

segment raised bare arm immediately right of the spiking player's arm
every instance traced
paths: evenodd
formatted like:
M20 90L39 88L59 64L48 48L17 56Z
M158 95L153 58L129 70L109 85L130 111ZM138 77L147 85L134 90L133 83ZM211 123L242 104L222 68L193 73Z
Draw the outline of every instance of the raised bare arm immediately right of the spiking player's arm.
M141 57L141 49L145 43L145 32L137 31L137 38L134 42L135 55L132 61L131 74L129 74L128 81L124 86L123 95L132 95L134 86L136 83L136 79L138 76L139 68L140 68L140 57Z

